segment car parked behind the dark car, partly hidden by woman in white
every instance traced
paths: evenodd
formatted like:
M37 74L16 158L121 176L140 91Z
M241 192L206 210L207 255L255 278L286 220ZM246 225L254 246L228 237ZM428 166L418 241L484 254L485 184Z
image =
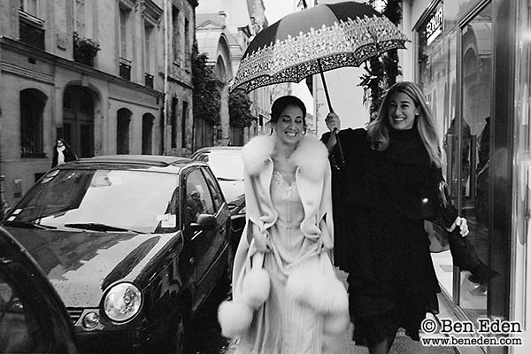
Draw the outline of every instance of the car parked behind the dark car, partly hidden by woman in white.
M232 224L231 243L235 253L245 226L242 147L206 147L196 150L192 158L210 165L212 172L218 179L219 187L221 187L230 209Z

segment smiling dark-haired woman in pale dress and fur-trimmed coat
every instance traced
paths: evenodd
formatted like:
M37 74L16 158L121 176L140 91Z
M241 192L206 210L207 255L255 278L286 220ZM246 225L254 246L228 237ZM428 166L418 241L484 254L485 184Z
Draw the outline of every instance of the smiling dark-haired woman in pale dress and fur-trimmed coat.
M271 108L272 134L242 149L246 226L234 300L219 307L222 334L241 336L238 353L320 354L349 325L348 296L331 261L327 149L306 135L305 115L299 98L281 96Z

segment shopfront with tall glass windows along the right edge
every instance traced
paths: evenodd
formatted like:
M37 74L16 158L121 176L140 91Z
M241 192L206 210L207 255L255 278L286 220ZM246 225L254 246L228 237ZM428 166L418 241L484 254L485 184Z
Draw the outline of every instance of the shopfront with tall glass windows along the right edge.
M443 133L444 173L468 220L479 256L500 275L488 285L434 254L452 313L507 320L523 345L460 352L527 353L531 348L531 6L528 0L404 0L404 80L417 81ZM492 334L489 334L490 336ZM489 336L487 335L487 336ZM478 337L474 333L472 336Z

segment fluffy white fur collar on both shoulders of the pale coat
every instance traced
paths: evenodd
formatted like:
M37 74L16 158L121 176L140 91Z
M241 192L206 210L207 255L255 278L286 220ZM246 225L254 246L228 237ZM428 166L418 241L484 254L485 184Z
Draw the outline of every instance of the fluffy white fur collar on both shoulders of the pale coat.
M242 149L242 161L245 172L251 176L261 173L272 157L275 148L274 135L258 135ZM319 181L326 171L328 151L322 142L312 136L304 135L296 150L291 154L293 164L300 173L312 181Z

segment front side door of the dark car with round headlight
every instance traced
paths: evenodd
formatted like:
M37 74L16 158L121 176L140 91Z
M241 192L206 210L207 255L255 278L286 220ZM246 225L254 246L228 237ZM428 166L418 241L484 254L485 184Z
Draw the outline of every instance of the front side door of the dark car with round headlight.
M212 196L212 189L202 170L202 167L195 166L186 173L183 198L184 229L191 246L190 261L195 267L194 310L203 303L227 269L227 260L223 258L223 250L227 245L225 204L219 204L219 196ZM215 227L198 228L200 215L214 217Z

